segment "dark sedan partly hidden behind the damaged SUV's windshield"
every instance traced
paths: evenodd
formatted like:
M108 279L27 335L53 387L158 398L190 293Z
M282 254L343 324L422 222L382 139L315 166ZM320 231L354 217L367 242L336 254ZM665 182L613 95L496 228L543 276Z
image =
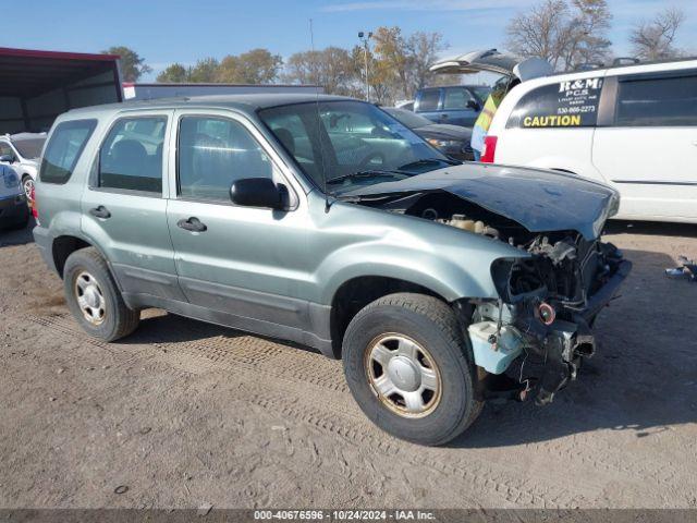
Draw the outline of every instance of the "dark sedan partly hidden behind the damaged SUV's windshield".
M460 125L433 123L420 114L395 107L383 107L382 110L449 157L462 161L475 159L474 151L469 146L472 130Z

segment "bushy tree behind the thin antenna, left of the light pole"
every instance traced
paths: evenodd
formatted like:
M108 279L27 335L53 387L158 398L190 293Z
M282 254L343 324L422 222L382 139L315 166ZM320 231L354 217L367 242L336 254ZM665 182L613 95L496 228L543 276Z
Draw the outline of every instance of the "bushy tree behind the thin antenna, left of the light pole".
M359 76L351 53L339 47L291 54L283 78L290 83L321 85L328 94L355 96Z

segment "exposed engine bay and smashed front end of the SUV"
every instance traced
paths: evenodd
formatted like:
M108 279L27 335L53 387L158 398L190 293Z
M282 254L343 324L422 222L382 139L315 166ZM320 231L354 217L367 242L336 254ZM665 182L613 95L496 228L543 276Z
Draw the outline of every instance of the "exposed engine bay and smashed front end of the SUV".
M376 202L368 205L375 206ZM485 398L550 403L596 346L591 326L631 270L612 244L573 230L530 232L461 197L433 192L381 202L386 210L509 243L529 256L499 259L499 300L456 303Z

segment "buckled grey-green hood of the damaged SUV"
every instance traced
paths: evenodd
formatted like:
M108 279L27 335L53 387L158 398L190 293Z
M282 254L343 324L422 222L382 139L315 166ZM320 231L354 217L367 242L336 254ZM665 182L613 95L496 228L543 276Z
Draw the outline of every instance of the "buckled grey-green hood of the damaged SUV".
M445 191L501 215L530 232L574 230L586 240L600 235L615 215L620 196L613 188L555 171L465 163L346 191L341 197L379 197Z

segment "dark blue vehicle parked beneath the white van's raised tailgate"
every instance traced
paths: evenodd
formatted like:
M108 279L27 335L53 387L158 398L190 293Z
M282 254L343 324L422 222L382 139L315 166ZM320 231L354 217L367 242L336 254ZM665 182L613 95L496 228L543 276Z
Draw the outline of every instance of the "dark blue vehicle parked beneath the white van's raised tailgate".
M414 112L436 123L472 127L486 101L486 97L477 94L478 88L472 85L425 87L416 93Z

